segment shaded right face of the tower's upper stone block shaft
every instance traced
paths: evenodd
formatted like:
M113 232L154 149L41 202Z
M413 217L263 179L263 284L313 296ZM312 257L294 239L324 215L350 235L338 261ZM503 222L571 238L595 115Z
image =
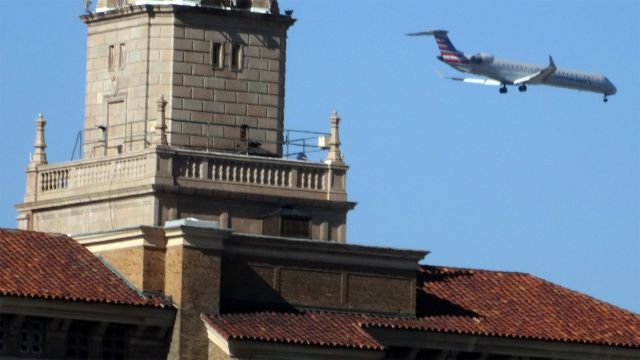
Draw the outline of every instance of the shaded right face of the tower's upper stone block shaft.
M281 154L287 24L179 13L174 31L169 143Z

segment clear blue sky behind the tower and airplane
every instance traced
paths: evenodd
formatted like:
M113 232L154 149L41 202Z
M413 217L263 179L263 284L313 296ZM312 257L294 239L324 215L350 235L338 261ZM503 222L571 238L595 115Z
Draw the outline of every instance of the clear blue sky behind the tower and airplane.
M55 6L53 6L55 4ZM455 5L453 5L455 4ZM401 5L401 6L399 6ZM427 249L425 263L528 272L640 312L640 2L281 0L294 9L285 125L328 130L351 166L348 241ZM50 162L82 128L82 1L0 0L0 226L15 227L34 123ZM604 73L601 95L525 94L454 75L433 39Z

